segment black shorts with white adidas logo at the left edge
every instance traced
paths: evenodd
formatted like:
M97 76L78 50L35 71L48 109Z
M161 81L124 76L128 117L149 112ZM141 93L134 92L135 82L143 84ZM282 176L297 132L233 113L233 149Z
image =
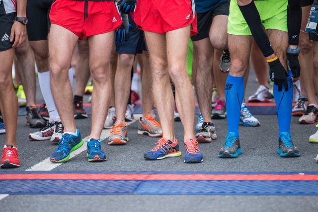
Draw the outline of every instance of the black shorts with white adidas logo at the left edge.
M10 42L10 34L15 16L15 12L0 15L0 52L12 48L13 42Z

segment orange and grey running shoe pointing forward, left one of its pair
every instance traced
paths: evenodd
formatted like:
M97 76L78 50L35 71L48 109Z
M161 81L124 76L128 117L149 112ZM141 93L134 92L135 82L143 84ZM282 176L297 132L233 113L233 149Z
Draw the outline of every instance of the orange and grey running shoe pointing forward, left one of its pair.
M108 145L126 144L128 123L124 121L116 121L114 126L110 128L110 136L108 137Z

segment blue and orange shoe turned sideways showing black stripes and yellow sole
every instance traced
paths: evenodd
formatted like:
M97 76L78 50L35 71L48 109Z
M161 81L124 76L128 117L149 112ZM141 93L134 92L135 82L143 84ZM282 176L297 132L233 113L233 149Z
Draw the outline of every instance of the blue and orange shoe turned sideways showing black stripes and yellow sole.
M144 158L150 160L159 160L166 157L177 157L181 155L178 141L174 142L167 140L166 138L159 139L157 145L151 151L144 154Z

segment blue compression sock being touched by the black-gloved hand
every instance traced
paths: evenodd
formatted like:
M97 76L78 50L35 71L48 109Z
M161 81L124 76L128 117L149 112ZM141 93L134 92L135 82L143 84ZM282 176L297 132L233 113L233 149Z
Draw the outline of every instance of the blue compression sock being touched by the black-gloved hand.
M289 76L287 77L288 91L285 91L284 86L282 91L278 91L278 86L273 84L279 135L281 132L290 133L290 122L293 109L293 81L290 76L292 76L291 71L289 71Z

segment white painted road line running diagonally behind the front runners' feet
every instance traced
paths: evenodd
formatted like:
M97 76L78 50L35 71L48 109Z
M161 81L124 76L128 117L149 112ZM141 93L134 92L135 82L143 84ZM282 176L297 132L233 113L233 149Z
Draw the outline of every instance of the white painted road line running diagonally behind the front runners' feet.
M134 120L132 122L128 122L128 125L131 125L139 120L139 118L142 117L142 114L134 114ZM109 136L109 130L104 129L101 132L100 138L106 139ZM80 154L81 152L86 150L86 142L88 140L88 136L83 139L84 144L79 147L77 150L73 151L70 155L70 159L75 157L76 155ZM50 161L50 157L45 158L41 162L35 164L29 169L26 169L25 171L51 171L52 169L62 165L63 163L52 163Z

